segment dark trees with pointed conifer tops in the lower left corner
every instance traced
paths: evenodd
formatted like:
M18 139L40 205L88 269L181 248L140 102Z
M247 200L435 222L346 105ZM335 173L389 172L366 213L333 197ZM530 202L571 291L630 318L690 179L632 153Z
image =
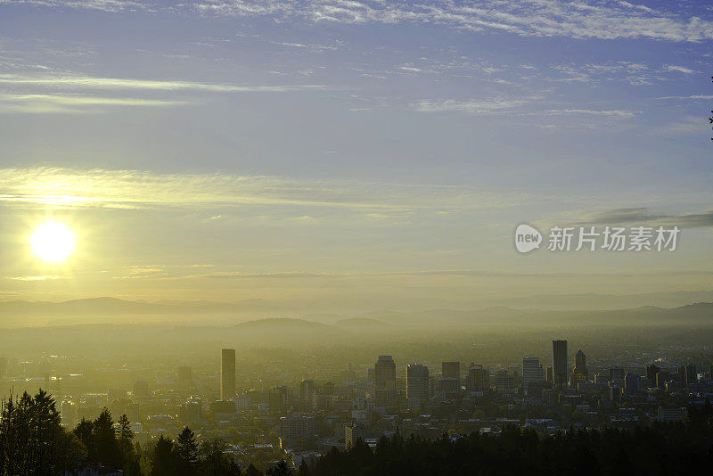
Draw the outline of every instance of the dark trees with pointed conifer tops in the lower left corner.
M0 410L0 476L69 476L86 468L121 470L127 476L263 476L253 465L242 471L225 453L224 441L199 444L188 427L176 440L160 436L142 448L134 441L127 415L114 423L104 408L94 420L82 419L66 430L45 390L6 398ZM285 462L268 471L271 476L289 473Z

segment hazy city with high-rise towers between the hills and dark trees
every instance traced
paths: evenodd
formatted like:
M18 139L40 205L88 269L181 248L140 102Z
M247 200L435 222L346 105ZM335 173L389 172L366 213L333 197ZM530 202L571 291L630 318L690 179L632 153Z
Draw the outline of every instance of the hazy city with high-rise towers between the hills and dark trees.
M109 410L115 422L127 415L144 450L189 427L198 441L219 441L239 468L269 472L284 462L295 473L357 441L374 449L395 435L455 440L496 438L512 428L543 435L630 430L687 420L692 407L713 399L713 365L685 349L593 361L570 345L554 340L549 355L518 363L406 363L381 355L371 364L325 360L261 372L241 365L236 349L215 349L217 365L106 365L86 374L72 373L87 364L71 357L2 357L0 384L49 392L69 431Z

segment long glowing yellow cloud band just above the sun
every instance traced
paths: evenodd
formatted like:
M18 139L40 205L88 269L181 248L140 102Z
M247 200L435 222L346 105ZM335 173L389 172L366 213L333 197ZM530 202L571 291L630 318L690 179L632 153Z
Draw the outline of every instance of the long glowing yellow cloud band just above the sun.
M443 185L354 184L278 176L154 174L135 170L0 168L0 203L25 208L217 209L259 205L438 211L507 207L526 200L523 193L501 196ZM301 212L299 217L306 215Z

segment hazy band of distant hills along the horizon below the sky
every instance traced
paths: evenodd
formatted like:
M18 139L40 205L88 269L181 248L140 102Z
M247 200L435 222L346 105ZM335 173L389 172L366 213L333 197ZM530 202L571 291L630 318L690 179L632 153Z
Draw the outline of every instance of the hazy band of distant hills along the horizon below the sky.
M230 325L243 322L242 330L290 327L331 329L332 332L359 331L386 327L538 324L713 324L713 304L698 302L676 308L643 306L611 310L544 310L507 307L472 310L430 308L415 312L370 311L356 315L304 314L291 308L291 301L243 300L234 303L209 301L145 302L94 298L46 301L0 302L0 327L70 324L181 323ZM280 318L276 318L276 317ZM296 316L302 316L296 318ZM245 322L250 320L251 322ZM258 324L259 323L259 324ZM332 325L334 324L334 325ZM324 325L319 328L318 325ZM326 331L325 331L326 332Z

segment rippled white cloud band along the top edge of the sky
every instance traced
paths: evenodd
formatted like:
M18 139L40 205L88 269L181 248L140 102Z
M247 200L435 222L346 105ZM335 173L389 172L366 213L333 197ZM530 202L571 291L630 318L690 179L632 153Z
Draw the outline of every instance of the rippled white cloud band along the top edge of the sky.
M195 0L143 3L134 0L0 0L0 4L82 8L103 12L197 12L217 17L270 17L315 23L416 23L521 37L649 38L700 42L713 38L713 22L684 13L659 12L616 0Z

